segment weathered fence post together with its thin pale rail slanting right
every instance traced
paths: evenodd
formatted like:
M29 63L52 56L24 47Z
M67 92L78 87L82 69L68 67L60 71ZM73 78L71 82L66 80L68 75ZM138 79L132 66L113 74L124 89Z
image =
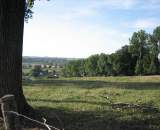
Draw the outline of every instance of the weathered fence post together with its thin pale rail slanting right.
M45 118L42 118L44 122L40 122L25 115L19 114L17 112L17 105L14 95L5 95L4 97L0 98L0 105L6 130L21 130L22 128L19 117L23 117L29 121L43 125L48 130L60 130L54 126L48 125Z

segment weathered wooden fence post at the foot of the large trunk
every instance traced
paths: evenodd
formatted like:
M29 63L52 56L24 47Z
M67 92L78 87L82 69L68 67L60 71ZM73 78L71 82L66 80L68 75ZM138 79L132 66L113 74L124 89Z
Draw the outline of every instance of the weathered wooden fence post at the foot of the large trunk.
M6 130L20 130L19 117L11 111L17 112L14 95L5 95L1 98L1 109Z

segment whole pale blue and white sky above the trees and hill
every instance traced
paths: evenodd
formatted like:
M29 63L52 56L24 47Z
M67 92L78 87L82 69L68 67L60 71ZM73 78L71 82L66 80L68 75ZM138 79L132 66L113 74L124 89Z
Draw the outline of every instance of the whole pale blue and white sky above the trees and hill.
M160 0L37 0L24 27L24 56L87 58L160 25Z

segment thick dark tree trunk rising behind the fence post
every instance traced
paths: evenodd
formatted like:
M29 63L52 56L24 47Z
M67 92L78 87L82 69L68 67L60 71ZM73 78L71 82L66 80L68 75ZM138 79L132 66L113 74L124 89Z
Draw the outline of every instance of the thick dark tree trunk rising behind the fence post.
M0 97L15 95L18 112L27 114L22 90L25 0L0 0Z

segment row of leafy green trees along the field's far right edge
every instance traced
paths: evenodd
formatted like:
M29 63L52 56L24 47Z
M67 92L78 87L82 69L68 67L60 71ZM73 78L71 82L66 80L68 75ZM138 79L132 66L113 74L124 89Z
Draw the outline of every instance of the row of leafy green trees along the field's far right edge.
M160 74L159 52L160 26L152 34L144 30L134 32L129 45L115 53L70 61L62 71L65 77L156 75Z

